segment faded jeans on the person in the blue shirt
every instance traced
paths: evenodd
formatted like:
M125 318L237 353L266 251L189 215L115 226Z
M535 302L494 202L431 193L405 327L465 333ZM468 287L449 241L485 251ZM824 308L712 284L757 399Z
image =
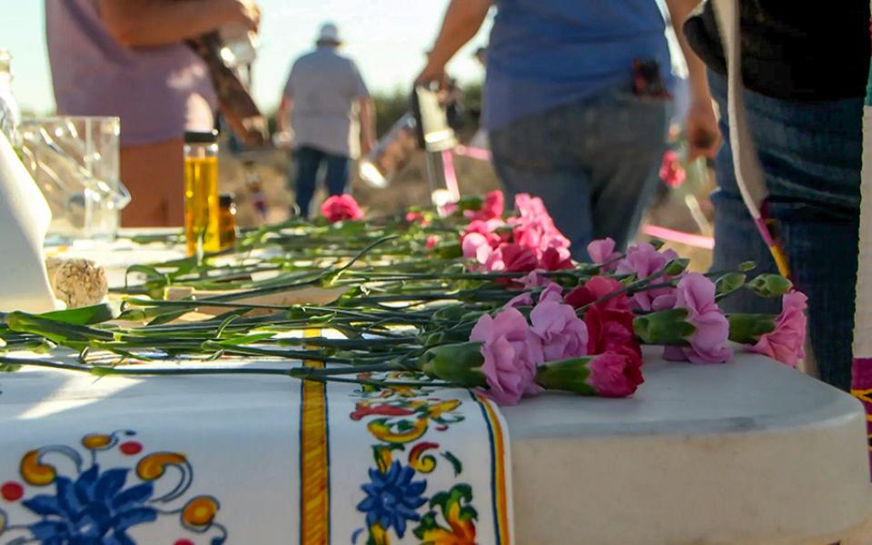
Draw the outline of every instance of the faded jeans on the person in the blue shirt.
M657 189L671 104L608 89L490 132L493 164L512 202L541 197L572 256L591 240L623 248Z

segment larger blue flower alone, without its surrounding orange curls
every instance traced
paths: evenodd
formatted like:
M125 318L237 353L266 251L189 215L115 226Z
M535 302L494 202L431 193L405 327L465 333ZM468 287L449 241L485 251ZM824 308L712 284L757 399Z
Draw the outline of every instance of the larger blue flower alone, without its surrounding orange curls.
M127 469L100 474L96 464L76 481L58 476L56 493L40 494L22 505L43 520L29 526L36 540L45 544L133 544L125 530L157 519L157 510L145 505L152 497L151 482L124 489Z

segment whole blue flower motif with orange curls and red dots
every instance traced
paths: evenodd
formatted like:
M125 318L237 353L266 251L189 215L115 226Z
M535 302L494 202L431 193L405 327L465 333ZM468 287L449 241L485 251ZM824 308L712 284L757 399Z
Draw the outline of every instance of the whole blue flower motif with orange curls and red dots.
M131 430L85 435L80 442L90 454L87 469L83 469L85 457L71 446L54 444L26 451L18 467L22 481L0 484L0 500L5 501L0 505L0 542L135 545L131 534L138 534L144 542L143 525L177 518L183 535L176 543L190 543L185 535L199 535L200 542L208 539L212 545L224 543L227 529L215 520L221 509L218 499L186 494L193 483L193 466L187 457L174 451L141 455L143 444L133 440L134 435ZM98 463L100 456L113 452L115 456L136 457L132 464L124 458L120 461L133 467L109 466L117 461ZM46 456L52 458L46 460ZM74 472L62 474L54 466L64 460L72 462ZM168 468L173 468L170 476ZM155 481L168 486L155 487ZM43 493L30 495L33 489L29 487ZM155 490L163 491L155 497ZM6 503L14 509L12 517L5 511Z

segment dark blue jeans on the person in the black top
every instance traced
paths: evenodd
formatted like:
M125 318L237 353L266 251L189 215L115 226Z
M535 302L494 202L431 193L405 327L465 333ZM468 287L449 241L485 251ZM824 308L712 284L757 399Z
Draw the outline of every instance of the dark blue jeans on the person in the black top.
M726 80L709 74L712 95L727 111ZM745 92L748 125L769 191L769 215L788 256L793 281L808 295L808 330L820 378L848 391L857 284L863 99L825 103L776 100ZM777 272L742 203L729 131L716 160L713 270L753 260L756 272ZM755 272L755 273L756 273ZM750 292L724 302L728 312L779 312L778 300Z

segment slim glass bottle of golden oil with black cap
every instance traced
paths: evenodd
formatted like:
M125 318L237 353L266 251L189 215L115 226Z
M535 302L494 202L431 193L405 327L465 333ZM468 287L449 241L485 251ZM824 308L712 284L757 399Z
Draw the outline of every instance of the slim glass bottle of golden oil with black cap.
M184 235L189 256L221 249L218 131L184 134Z

